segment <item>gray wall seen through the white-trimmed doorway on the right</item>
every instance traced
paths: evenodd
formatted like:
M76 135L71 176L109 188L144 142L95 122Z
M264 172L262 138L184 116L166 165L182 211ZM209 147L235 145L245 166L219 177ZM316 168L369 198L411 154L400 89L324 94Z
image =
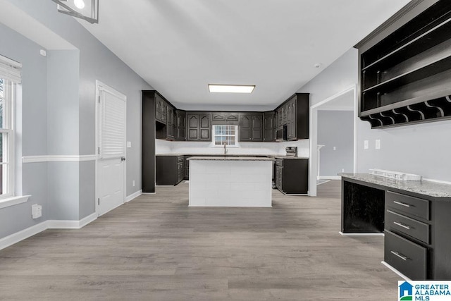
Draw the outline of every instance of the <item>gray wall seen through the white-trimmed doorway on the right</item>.
M318 111L319 176L354 170L354 111ZM333 149L335 147L335 150Z

